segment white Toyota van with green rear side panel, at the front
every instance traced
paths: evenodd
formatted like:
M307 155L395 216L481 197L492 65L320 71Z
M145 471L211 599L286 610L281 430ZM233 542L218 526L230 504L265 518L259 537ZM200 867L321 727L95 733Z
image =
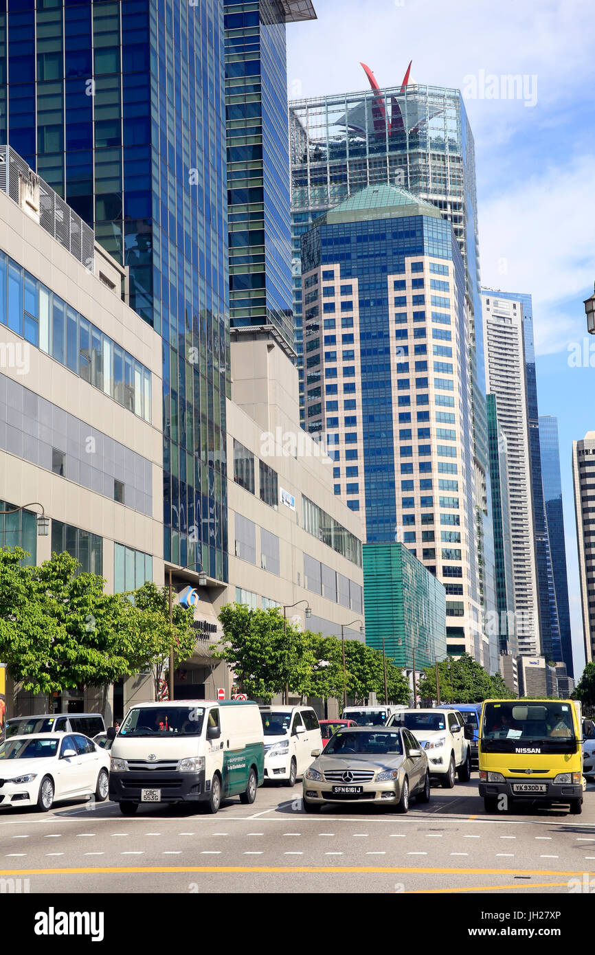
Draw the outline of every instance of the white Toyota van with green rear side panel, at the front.
M124 816L140 803L198 802L209 813L222 799L254 802L265 778L265 737L256 703L172 700L139 703L113 739L110 799Z

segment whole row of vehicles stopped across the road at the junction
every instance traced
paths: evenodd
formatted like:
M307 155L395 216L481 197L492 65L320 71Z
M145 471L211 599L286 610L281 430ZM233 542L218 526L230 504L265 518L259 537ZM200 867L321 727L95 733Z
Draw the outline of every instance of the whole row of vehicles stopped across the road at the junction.
M476 771L487 814L523 804L579 815L595 776L595 726L580 704L552 699L345 707L321 721L308 705L142 703L107 730L96 713L17 717L0 744L0 810L109 797L123 816L155 804L214 815L235 796L250 805L263 785L293 789L301 779L305 813L375 805L405 814L433 786L452 790Z

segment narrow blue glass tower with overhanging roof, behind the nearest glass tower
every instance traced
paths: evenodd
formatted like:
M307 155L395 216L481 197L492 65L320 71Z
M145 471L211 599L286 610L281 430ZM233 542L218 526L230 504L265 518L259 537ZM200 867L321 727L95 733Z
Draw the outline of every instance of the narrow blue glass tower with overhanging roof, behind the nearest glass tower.
M293 344L286 24L310 0L225 0L231 328L274 325Z

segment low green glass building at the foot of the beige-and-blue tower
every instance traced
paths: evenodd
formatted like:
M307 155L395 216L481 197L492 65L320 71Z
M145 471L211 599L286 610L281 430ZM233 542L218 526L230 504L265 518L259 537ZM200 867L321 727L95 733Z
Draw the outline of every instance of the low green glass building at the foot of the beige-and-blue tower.
M446 590L399 541L363 547L366 644L399 668L446 659Z

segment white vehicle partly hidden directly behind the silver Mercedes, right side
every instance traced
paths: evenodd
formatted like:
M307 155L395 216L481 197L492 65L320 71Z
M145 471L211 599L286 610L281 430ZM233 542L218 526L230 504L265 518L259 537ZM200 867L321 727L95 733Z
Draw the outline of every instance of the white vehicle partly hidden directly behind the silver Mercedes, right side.
M445 789L471 778L473 727L466 726L457 710L401 710L393 713L387 726L404 726L413 732L428 757L430 775Z

